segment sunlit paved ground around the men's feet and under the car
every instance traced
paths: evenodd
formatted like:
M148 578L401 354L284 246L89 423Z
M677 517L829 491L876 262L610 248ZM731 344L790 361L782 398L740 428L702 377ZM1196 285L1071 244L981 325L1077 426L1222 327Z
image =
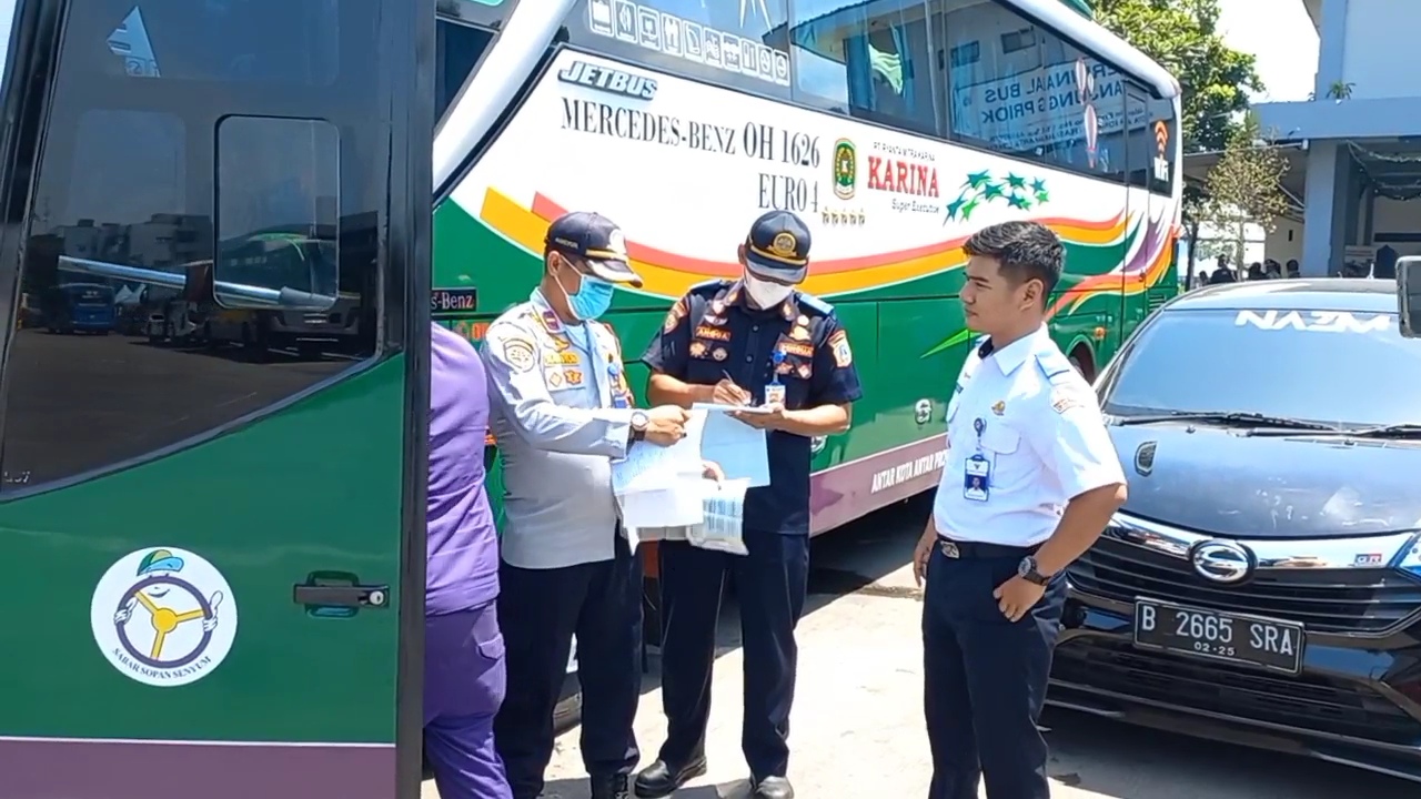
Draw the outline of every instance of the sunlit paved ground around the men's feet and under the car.
M813 610L800 624L790 779L804 799L926 796L919 594L907 567L925 509L908 505L816 540ZM730 611L733 614L733 610ZM678 799L746 796L737 626L722 628L710 773ZM655 667L638 715L645 759L664 732ZM1322 762L1052 711L1056 799L1403 799L1421 788ZM587 799L577 729L558 738L546 799ZM436 799L426 783L425 799Z

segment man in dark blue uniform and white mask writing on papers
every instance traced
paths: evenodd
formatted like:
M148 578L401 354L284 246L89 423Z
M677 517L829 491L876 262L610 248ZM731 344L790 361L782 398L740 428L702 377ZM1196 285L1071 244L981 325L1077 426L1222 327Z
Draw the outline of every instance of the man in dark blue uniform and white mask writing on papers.
M648 401L753 404L740 414L769 431L772 482L745 496L747 556L659 546L662 705L666 742L637 775L638 796L665 796L705 773L710 665L726 574L740 596L745 640L742 748L755 796L789 799L789 719L794 627L809 573L810 438L844 432L863 395L848 333L828 303L796 291L809 272L810 233L797 216L769 212L740 245L743 277L691 289L666 314L642 360Z

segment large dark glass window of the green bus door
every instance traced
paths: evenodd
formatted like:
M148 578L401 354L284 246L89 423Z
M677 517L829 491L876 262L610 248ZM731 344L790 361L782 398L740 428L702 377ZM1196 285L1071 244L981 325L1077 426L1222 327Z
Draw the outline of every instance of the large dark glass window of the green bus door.
M43 118L23 117L36 125L20 155L33 154L33 179L6 235L21 243L9 269L28 303L10 318L0 502L134 479L122 475L138 463L246 429L385 355L378 3L80 6L57 33L53 73L33 78ZM142 31L138 17L124 23L135 6ZM290 27L254 27L273 9ZM220 14L230 30L207 26ZM121 23L129 50L142 33L156 64L125 68L111 47ZM229 37L203 54L213 30ZM242 61L252 70L216 68L243 54L257 55ZM219 250L242 250L242 310L213 301ZM276 304L283 294L297 313ZM327 310L307 310L317 304ZM152 462L182 479L180 456Z

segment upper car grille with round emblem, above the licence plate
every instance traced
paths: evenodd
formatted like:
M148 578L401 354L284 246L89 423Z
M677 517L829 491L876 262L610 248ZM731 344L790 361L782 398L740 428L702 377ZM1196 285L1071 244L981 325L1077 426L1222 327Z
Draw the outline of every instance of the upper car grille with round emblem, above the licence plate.
M1071 564L1091 596L1135 597L1300 621L1323 633L1380 633L1421 610L1421 581L1390 569L1269 569L1236 586L1206 583L1182 557L1101 537Z

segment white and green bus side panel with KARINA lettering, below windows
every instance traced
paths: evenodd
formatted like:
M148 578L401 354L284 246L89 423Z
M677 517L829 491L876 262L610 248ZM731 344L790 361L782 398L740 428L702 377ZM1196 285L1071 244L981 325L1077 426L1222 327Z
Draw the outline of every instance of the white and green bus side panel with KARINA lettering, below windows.
M587 85L593 74L620 75L604 80L618 90ZM549 222L595 209L622 226L645 280L618 290L607 316L639 388L647 370L632 361L665 309L696 283L736 279L736 243L767 208L810 225L803 290L836 306L865 385L853 428L816 441L814 532L936 485L972 340L956 294L973 230L1036 219L1061 236L1052 326L1087 374L1142 318L1151 289L1175 290L1177 199L573 48L438 206L433 281L477 284L485 314L453 324L477 338L537 284Z

